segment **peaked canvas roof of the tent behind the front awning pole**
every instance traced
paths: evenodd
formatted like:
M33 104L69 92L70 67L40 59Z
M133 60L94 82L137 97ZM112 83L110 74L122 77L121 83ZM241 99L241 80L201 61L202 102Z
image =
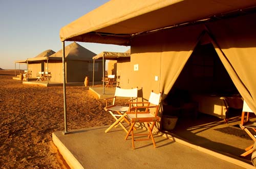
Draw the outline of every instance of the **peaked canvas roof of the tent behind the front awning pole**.
M94 57L96 53L82 47L76 42L71 43L70 45L65 47L65 57L66 60L72 61L92 61L92 57ZM58 60L58 58L62 58L62 49L52 54L49 57L49 60Z

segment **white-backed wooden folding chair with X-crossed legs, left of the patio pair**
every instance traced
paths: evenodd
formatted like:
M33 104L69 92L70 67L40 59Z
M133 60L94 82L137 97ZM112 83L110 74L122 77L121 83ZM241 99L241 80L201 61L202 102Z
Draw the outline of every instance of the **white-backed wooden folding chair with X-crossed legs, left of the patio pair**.
M118 98L131 98L129 101L137 101L138 96L138 88L135 89L121 89L116 88L115 96L104 99L106 102L106 106L104 107L105 111L109 111L113 118L116 120L108 129L105 130L105 133L108 132L111 128L116 125L120 125L125 132L128 130L122 124L123 121L130 125L130 122L125 118L126 111L129 110L129 106L121 106L116 104L116 99ZM112 104L109 102L112 101Z

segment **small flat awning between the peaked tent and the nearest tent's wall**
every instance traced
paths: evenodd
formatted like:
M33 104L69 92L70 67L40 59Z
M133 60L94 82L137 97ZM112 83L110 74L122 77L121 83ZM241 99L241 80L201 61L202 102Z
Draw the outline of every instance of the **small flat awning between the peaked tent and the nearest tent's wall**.
M118 60L121 58L129 58L131 57L131 53L128 52L111 52L111 51L102 51L101 53L97 54L93 59L104 59L106 60Z

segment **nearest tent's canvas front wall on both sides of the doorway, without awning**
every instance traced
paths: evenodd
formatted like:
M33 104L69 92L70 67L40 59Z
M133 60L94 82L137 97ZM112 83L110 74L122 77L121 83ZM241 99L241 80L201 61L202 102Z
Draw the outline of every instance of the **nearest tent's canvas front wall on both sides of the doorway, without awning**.
M139 71L133 72L131 85L136 83L145 90L155 89L168 94L202 33L205 33L212 37L211 42L243 98L255 106L253 65L256 58L253 52L256 43L253 41L253 29L256 25L251 22L255 16L252 14L134 38L131 62L142 65L143 61L147 61L147 67L139 65ZM159 76L159 81L154 81L154 76ZM150 79L150 86L146 84L146 79Z

